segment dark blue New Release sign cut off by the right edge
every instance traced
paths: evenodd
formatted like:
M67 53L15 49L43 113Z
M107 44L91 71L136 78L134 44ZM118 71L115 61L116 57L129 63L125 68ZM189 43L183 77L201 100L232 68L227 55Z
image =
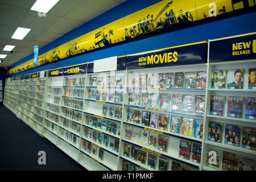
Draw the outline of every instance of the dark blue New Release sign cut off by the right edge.
M210 63L256 58L256 32L210 42Z

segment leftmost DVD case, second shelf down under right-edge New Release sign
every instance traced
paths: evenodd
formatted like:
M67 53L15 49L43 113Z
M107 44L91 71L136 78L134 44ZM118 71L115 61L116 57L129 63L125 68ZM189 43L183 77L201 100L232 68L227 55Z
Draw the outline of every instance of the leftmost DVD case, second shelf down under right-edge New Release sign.
M210 114L223 115L225 96L210 96Z

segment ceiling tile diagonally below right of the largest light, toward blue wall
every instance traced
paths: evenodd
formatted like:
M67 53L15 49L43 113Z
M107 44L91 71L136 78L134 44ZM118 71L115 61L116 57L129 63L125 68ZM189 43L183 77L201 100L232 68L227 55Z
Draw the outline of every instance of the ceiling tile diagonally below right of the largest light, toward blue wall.
M61 18L59 19L53 26L51 26L47 31L57 32L60 34L67 34L68 32L75 29L75 27L79 27L84 22L73 20L69 18Z

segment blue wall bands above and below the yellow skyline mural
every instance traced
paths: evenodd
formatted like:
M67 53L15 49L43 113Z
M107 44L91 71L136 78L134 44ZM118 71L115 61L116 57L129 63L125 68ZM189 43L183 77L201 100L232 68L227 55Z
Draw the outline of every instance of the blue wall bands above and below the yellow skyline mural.
M143 3L144 2L144 3ZM146 3L145 3L146 2ZM47 46L39 49L39 53L42 54L60 46L61 44L68 42L69 40L75 39L78 36L84 35L87 32L95 30L98 27L104 26L114 20L122 18L123 16L129 15L143 9L144 7L153 5L159 1L134 1L128 0L125 3L115 7L114 9L98 16L97 18L91 20L88 23L76 28L75 30L69 32L63 37L55 40L54 42L48 44ZM136 5L136 6L134 6ZM45 69L53 69L59 67L67 67L69 65L86 63L89 61L102 59L111 56L122 56L132 53L138 53L143 51L150 51L159 48L166 48L172 46L179 46L182 44L195 43L200 41L205 41L208 39L224 38L226 36L247 34L256 31L256 12L247 13L243 15L233 16L232 18L225 18L217 20L214 22L199 24L197 26L184 28L182 30L167 32L165 34L152 36L150 38L137 40L134 42L124 43L118 46L113 46L85 55L72 57L70 59L57 61L55 63L47 64L42 67L30 69L26 72L16 73L13 76L25 75L28 73L34 73L42 71ZM27 56L23 60L9 67L9 69L16 67L28 60L31 60L33 55Z

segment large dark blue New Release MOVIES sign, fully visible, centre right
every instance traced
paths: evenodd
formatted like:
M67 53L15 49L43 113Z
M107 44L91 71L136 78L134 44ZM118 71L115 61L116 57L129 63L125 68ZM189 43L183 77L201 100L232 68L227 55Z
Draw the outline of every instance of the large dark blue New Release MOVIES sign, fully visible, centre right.
M127 56L127 69L206 63L207 42L148 51Z

